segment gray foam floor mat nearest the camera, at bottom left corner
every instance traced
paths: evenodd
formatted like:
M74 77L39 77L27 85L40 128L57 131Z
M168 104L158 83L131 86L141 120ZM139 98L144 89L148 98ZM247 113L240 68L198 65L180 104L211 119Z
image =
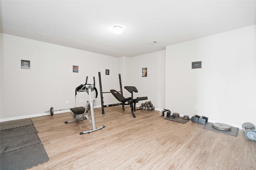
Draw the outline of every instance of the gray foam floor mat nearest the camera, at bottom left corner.
M48 162L49 157L42 144L0 155L1 170L24 170Z

